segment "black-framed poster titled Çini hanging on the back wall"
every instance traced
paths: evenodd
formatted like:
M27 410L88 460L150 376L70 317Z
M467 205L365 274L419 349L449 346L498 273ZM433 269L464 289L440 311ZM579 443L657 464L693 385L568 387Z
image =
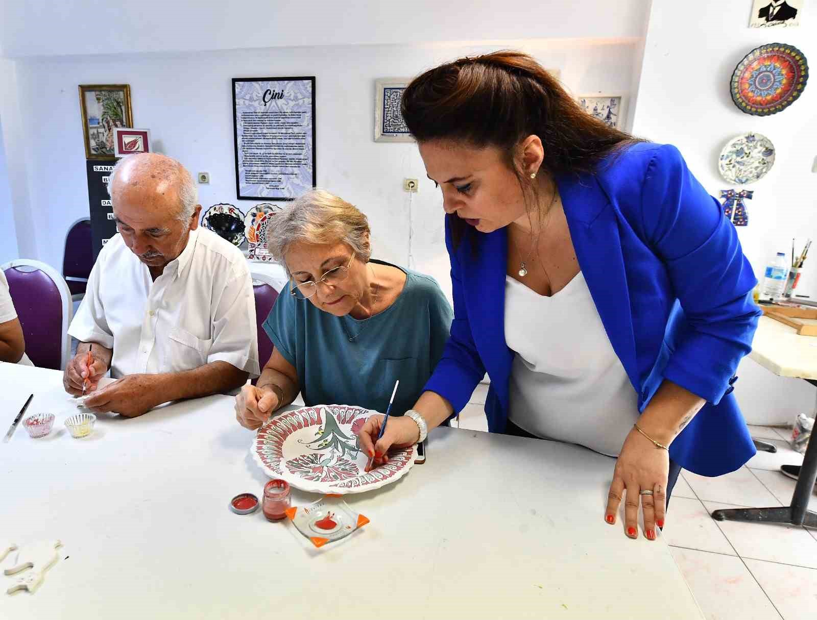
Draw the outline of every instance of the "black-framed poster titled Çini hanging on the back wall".
M233 78L235 192L294 200L315 187L315 77Z

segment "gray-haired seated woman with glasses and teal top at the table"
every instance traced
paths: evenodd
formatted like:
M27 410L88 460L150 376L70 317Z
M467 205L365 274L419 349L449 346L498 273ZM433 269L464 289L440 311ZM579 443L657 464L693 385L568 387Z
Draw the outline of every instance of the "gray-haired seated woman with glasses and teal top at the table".
M287 270L264 330L274 349L257 386L235 399L257 429L301 392L304 403L402 415L440 360L453 310L434 279L371 258L368 220L345 200L311 190L275 216L270 253Z

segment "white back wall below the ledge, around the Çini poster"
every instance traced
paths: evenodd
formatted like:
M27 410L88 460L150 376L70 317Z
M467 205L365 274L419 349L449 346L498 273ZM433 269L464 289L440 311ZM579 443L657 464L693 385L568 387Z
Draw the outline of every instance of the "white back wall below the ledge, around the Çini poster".
M627 91L636 41L505 42L561 70L577 91ZM370 218L375 256L405 264L408 194L404 177L420 179L413 198L417 268L450 288L438 190L426 180L413 144L373 141L375 78L411 76L440 61L493 50L460 45L287 47L129 56L73 56L16 61L22 126L29 149L31 214L38 259L60 265L68 225L87 215L87 180L77 85L129 83L135 127L148 127L162 152L191 172L210 172L200 201L235 203L230 78L316 76L318 184L357 204ZM47 96L43 85L47 84Z

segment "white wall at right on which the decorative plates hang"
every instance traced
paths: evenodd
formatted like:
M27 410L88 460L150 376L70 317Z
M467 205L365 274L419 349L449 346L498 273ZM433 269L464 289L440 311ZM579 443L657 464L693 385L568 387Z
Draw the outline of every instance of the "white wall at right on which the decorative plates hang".
M806 237L817 239L817 79L791 107L770 117L743 114L730 98L730 78L743 56L764 43L787 42L817 62L817 7L806 2L799 28L749 29L748 0L654 2L641 68L633 131L681 149L690 169L715 196L732 187L717 172L721 148L743 132L760 132L776 149L775 166L747 202L749 223L739 227L743 251L758 279L774 252L791 252ZM801 290L817 298L817 255L806 263ZM817 349L815 349L817 356ZM780 379L751 360L739 368L736 386L749 422L792 422L812 411L815 390L805 381Z

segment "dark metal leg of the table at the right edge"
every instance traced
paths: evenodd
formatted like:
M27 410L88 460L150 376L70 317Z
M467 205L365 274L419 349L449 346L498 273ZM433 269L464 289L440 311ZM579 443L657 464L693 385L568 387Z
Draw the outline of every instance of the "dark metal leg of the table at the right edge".
M806 379L812 386L817 386L814 379ZM771 508L731 508L712 512L712 519L717 521L749 521L765 523L785 523L792 525L806 525L810 528L817 528L817 512L810 511L809 497L815 488L817 480L817 441L815 434L811 434L809 444L806 447L806 456L803 458L803 465L800 475L797 476L797 486L792 494L792 505Z

